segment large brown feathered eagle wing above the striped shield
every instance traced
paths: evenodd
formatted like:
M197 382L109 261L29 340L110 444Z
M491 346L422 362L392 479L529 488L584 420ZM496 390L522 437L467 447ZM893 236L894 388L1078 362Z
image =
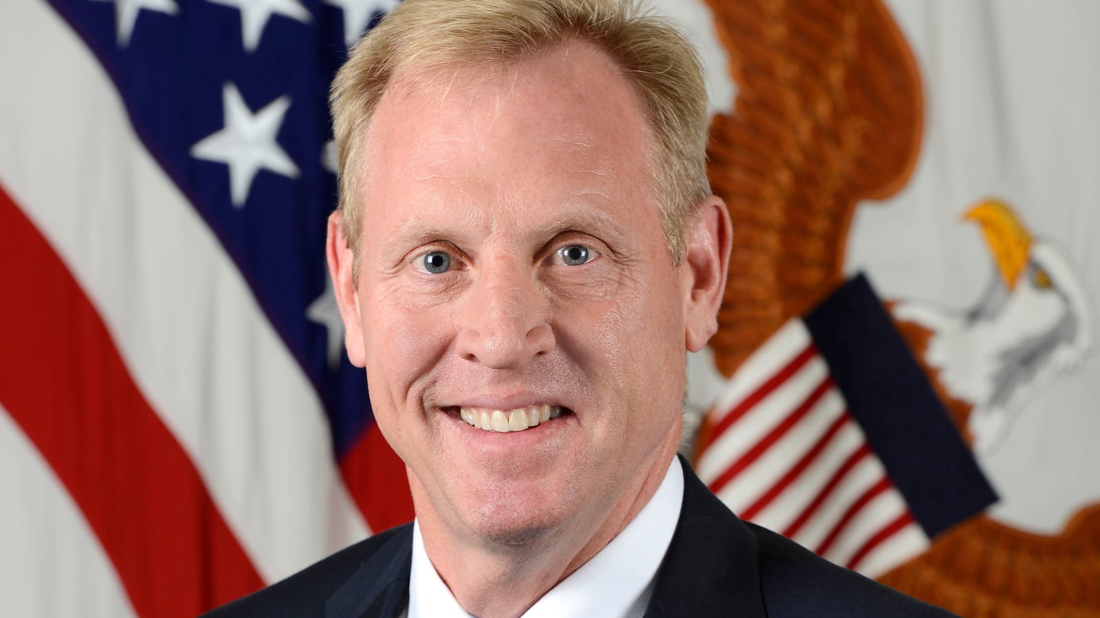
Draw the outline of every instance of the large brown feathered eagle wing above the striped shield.
M707 0L738 86L708 174L734 221L726 376L840 282L856 203L902 187L922 132L916 64L878 0Z

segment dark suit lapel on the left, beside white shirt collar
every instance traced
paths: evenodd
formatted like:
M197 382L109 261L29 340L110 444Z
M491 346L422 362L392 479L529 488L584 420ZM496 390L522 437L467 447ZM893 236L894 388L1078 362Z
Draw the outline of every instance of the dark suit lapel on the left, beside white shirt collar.
M411 567L413 525L406 525L329 597L326 618L398 616L408 605Z

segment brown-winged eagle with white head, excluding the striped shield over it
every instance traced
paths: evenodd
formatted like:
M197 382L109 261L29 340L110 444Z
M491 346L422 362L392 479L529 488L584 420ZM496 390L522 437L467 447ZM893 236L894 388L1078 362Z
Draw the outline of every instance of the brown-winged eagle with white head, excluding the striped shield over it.
M925 96L880 0L705 4L737 86L732 111L713 119L708 152L735 228L719 332L705 358L721 383L844 282L857 212L889 209L875 202L910 181ZM965 218L991 256L977 300L886 306L958 431L989 454L1030 413L1031 398L1092 354L1094 304L1074 255L1028 231L1007 201L982 200ZM978 515L878 578L964 616L1097 615L1100 505L1056 534Z

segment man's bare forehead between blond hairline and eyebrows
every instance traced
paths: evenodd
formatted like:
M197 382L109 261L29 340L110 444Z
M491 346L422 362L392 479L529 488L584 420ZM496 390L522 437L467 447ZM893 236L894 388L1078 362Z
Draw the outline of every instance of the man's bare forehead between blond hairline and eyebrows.
M398 77L370 128L359 198L371 209L375 198L460 180L468 192L584 178L601 194L651 192L651 143L620 69L572 42L509 65Z

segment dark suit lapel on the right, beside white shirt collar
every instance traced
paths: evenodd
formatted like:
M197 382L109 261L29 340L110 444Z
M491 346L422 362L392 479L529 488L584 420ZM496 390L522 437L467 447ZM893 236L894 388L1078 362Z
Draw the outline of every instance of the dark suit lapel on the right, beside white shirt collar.
M756 537L680 464L683 507L646 616L766 616Z

